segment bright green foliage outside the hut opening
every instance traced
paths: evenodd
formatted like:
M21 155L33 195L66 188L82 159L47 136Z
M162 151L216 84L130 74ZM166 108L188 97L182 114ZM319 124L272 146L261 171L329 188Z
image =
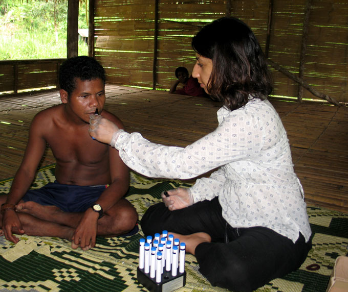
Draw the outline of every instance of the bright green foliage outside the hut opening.
M0 60L67 57L68 1L0 0ZM85 3L79 28L88 28ZM88 48L79 43L79 55Z

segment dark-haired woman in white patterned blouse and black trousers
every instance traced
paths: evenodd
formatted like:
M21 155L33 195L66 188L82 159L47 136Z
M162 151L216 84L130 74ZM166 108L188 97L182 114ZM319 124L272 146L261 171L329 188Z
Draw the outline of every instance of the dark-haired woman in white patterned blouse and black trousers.
M162 194L141 220L145 235L168 230L186 242L212 285L252 291L298 269L311 248L302 186L281 120L267 100L266 58L236 18L205 26L192 40L192 76L223 103L219 126L186 148L151 143L91 116L90 135L149 177L197 179Z

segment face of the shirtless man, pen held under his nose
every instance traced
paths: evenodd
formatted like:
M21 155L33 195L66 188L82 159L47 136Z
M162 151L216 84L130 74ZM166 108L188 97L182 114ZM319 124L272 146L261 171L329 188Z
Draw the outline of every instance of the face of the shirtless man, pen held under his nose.
M67 104L79 119L89 123L90 115L95 114L98 109L99 114L105 104L104 83L100 78L82 81L75 80L75 89L69 98L62 98L62 102Z

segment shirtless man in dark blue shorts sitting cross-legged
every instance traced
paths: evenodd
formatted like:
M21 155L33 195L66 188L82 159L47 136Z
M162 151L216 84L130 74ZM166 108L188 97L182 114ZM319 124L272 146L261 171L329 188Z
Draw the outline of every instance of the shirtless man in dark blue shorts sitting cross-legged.
M33 118L11 190L0 196L0 235L14 243L19 239L13 233L55 236L71 240L73 249L88 250L97 235L136 231L137 212L122 198L129 186L128 167L115 148L88 133L90 115L96 113L123 125L103 111L104 69L95 59L66 60L59 84L62 104ZM47 143L57 162L56 181L28 191Z

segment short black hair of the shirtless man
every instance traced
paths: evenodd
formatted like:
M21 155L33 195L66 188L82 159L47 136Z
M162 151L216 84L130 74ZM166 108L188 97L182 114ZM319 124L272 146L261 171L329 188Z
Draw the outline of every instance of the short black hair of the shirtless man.
M69 58L59 68L59 86L68 92L68 96L76 87L76 78L82 81L100 78L105 84L105 70L92 57L78 56Z

